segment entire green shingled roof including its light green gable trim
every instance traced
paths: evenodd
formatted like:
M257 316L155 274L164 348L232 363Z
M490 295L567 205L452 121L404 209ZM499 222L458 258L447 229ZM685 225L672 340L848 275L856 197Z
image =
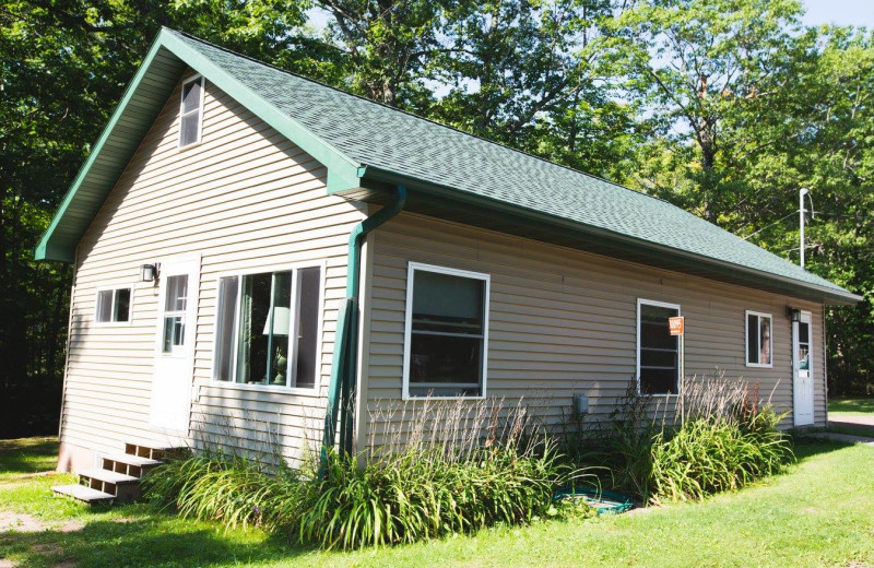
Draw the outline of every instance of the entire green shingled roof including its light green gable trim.
M683 270L717 280L788 291L835 304L853 304L861 299L665 201L166 28L155 40L102 141L123 115L130 94L137 92L139 83L149 74L157 57L155 54L165 51L177 64L189 66L203 74L322 163L328 169L331 194L378 202L380 185L403 182L410 191L411 208L416 206L416 196L423 196L422 199L426 197L432 202L454 204L457 210L462 208L456 212L459 215L463 215L463 208L470 206L492 211L495 215L513 216L523 223L530 220L532 227L538 226L536 232L531 230L532 235L545 235L547 230L543 227L548 229L548 226L556 238L562 230L574 233L576 240L568 239L568 246L592 250L593 242L613 242L616 250L637 248L640 251L637 262L647 263L646 255L658 253L660 259L675 259L676 267L695 262L692 269ZM156 81L164 81L162 85L173 83L168 86L173 88L178 78L173 81L163 69ZM154 104L163 106L166 97ZM137 132L134 128L127 135L135 138ZM102 141L95 145L80 178L90 176L94 156L103 151ZM113 153L114 167L120 164L123 168L130 155L132 151L127 158L123 152ZM98 186L96 178L95 175L95 188ZM70 260L87 224L111 190L111 184L103 181L98 189L82 197L87 208L81 208L82 211L73 215L71 203L78 199L80 181L78 178L64 199L37 249L37 258ZM482 220L483 215L476 218ZM727 274L731 271L743 279L732 280ZM757 284L758 280L761 285Z

